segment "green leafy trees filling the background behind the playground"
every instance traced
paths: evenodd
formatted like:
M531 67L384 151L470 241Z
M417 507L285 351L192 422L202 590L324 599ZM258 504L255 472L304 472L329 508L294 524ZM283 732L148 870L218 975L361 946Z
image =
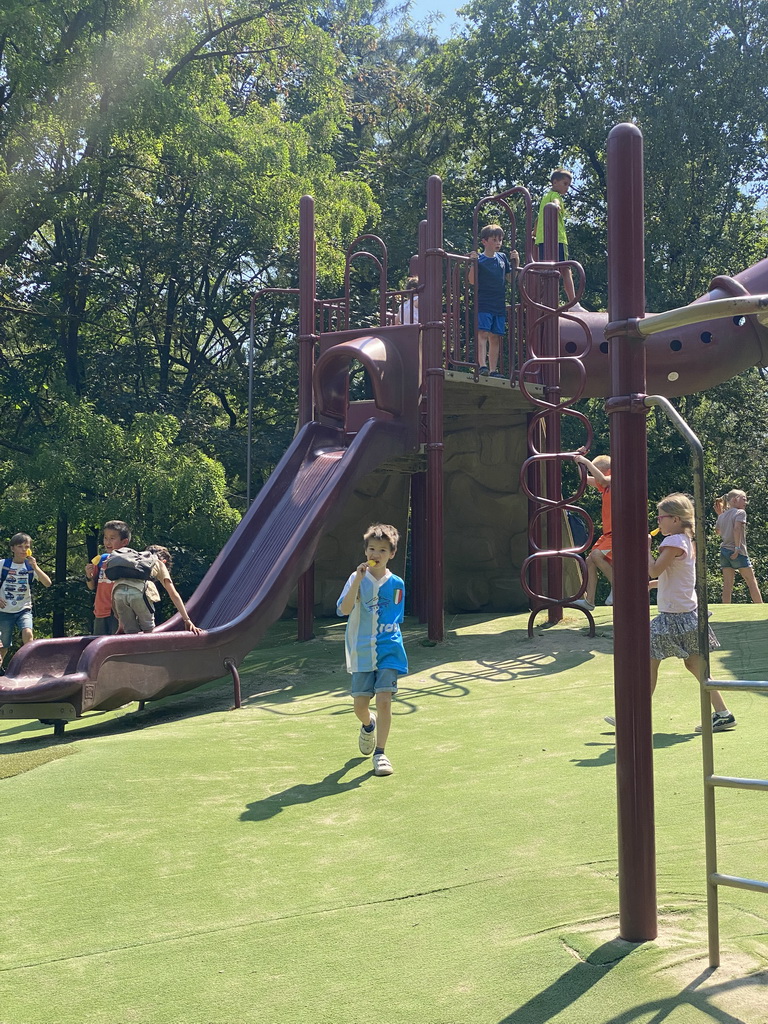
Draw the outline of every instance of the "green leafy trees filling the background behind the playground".
M603 305L605 139L634 121L648 307L765 254L767 0L464 12L466 31L440 43L383 0L5 3L0 525L68 566L68 628L84 622L84 542L106 518L172 547L189 584L237 521L251 294L296 287L302 195L316 200L319 289L334 295L361 232L385 240L389 284L402 282L428 175L444 179L446 248L464 252L482 196L522 183L538 198L570 164L571 253L588 304ZM365 323L378 279L357 265L353 279ZM295 428L298 323L283 294L254 311L258 484ZM602 403L589 408L593 452L607 451ZM765 383L745 374L680 408L706 442L708 493L752 493L760 577ZM656 499L684 485L687 453L656 414L649 437ZM41 597L43 616L56 600Z

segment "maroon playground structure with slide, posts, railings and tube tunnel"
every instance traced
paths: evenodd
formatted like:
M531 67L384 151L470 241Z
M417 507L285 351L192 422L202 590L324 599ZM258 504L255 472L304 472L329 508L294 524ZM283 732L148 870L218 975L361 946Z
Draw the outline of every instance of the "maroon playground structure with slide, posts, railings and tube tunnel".
M643 625L647 623L646 380L665 398L710 387L749 366L768 364L766 304L751 298L768 290L768 260L733 279L717 278L710 293L698 300L713 302L713 306L703 311L696 310L695 304L687 307L687 317L683 311L677 311L677 318L662 314L668 317L665 330L646 331L646 339L643 329L652 325L652 317L645 316L644 309L639 131L628 125L614 129L608 157L607 316L574 315L558 308L561 265L554 259L540 263L532 258L531 208L525 189L487 197L475 210L477 224L484 205L507 209L512 225L509 241L514 245L516 220L510 200L514 197L524 207L525 266L520 301L510 316L506 380L478 376L471 349L473 317L467 282L472 257L443 248L437 177L427 185L427 217L420 226L413 267L420 280L417 325L392 323L395 306L409 296L387 291L386 259L379 261L378 327L349 328L349 266L352 258L358 258L355 254L349 254L344 296L316 298L313 202L305 197L298 292L299 431L186 602L189 614L206 632L200 636L180 632L180 621L174 616L148 635L35 641L16 654L1 681L0 718L39 718L56 723L60 732L65 722L85 712L182 692L227 672L234 680L237 703L238 666L282 614L295 585L299 635L311 636L315 609L311 566L318 549L321 560L325 557L335 564L337 573L346 574L359 557L360 527L369 517L383 518L384 509L399 507L398 521L407 521L409 503L413 608L427 623L430 638L439 641L443 636L444 551L456 547L445 543L454 536L450 520L455 504L451 495L449 503L443 503L445 463L446 455L450 461L456 454L446 447L451 435L446 427L454 426L461 434L482 417L495 424L496 436L482 438L489 447L509 430L510 421L522 438L517 447L496 444L501 458L485 464L485 479L480 481L481 487L489 489L487 476L494 477L498 467L506 465L508 489L497 490L502 495L499 505L502 510L514 508L520 520L519 528L507 525L506 540L515 548L515 557L500 570L493 564L495 551L488 547L486 562L496 580L509 574L512 567L521 570L522 589L515 582L511 600L524 590L531 599L531 616L546 608L550 620L557 621L563 605L584 592L582 583L581 589L577 586L572 593L564 593L563 562L578 564L589 545L588 539L580 547L563 546L563 512L577 508L585 481L568 500L562 500L562 466L572 460L573 453L560 451L559 420L563 414L581 415L570 411L580 396L604 396L611 414L613 465L633 470L617 475L612 490L614 560L622 565L614 587L622 936L653 938L649 638ZM556 249L555 216L554 209L547 211L547 256L553 256ZM686 323L701 312L709 316L707 321ZM354 366L365 370L371 398L349 400ZM538 407L535 413L530 400ZM589 443L586 423L585 429ZM483 458L483 452L475 452L475 462L482 464ZM394 496L374 486L368 494L376 495L375 502L367 502L365 493L359 497L359 490L354 499L355 487L365 490L366 481L371 474L381 473L382 466L385 476L401 478ZM469 505L476 521L481 510L476 508L475 497L473 490ZM345 506L355 500L357 508L345 518ZM335 532L334 522L340 522ZM462 536L461 522L458 536ZM324 556L323 545L331 549L330 554ZM470 545L470 557L472 550ZM318 579L328 583L322 570ZM471 579L477 590L477 577ZM482 588L493 593L487 579ZM332 578L327 591L338 593L339 589ZM493 607L493 602L488 604ZM703 615L703 607L699 612Z

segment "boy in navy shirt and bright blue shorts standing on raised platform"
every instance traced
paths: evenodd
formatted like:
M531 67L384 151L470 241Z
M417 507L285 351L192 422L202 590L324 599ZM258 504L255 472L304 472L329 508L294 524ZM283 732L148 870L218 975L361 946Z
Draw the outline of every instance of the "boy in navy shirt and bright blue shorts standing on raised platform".
M480 231L482 252L477 257L477 361L480 373L501 377L499 356L502 342L507 335L507 281L512 265L501 252L504 230L499 224L486 224ZM511 253L517 266L517 250ZM469 283L475 284L474 267L469 270ZM487 346L487 364L485 347Z

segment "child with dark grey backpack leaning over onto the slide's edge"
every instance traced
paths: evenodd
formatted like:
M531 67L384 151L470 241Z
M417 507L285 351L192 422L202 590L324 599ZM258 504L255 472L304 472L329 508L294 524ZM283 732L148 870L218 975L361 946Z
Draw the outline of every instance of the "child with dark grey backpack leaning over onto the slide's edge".
M171 554L168 548L154 544L147 551L118 548L106 559L104 572L114 583L112 603L120 621L121 633L152 633L155 629L154 604L160 598L156 583L165 587L173 605L181 615L184 629L202 633L186 611L169 571Z

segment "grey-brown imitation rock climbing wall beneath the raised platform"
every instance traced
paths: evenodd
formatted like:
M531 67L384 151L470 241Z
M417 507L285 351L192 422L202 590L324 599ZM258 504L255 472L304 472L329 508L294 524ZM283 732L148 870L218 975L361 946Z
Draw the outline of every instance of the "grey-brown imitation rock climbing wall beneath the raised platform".
M530 409L506 381L446 373L444 391L445 610L518 611L527 607L520 566L527 556L528 503L520 489ZM362 558L373 521L404 534L411 473L426 458L394 460L365 477L323 538L315 560L315 612L333 615L336 599ZM406 569L400 544L392 570ZM407 577L408 582L408 577Z

